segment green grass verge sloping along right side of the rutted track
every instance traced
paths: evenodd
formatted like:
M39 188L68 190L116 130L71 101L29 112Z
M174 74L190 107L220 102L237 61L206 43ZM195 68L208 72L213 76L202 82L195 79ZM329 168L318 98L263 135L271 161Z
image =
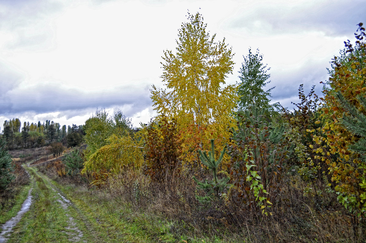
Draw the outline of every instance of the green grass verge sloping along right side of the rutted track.
M214 233L210 236L194 232L190 235L179 235L171 231L176 222L137 210L134 206L111 197L107 192L53 183L67 195L76 208L87 215L87 220L99 232L104 242L243 242L242 238L233 239L231 234L225 239ZM179 225L181 224L182 222Z

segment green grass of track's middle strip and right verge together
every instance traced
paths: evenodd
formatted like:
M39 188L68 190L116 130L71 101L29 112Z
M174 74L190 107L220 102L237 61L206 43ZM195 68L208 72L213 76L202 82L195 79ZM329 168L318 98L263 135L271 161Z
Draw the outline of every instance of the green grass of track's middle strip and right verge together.
M164 219L161 215L144 212L106 191L91 191L73 184L60 185L33 167L28 167L33 181L33 204L14 228L8 242L70 242L71 230L66 229L72 217L83 232L80 242L192 242L219 243L236 241L232 235L222 239L215 235L200 235L185 231L180 235L172 229L184 222ZM56 191L53 191L54 188ZM57 201L61 194L72 202L65 211ZM184 227L193 228L190 225Z

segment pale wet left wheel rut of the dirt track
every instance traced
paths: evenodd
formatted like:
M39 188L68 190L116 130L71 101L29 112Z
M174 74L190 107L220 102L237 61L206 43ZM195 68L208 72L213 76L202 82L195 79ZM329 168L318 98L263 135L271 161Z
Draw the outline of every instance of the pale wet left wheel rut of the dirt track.
M23 202L22 207L20 208L20 211L16 216L12 217L10 220L6 221L3 225L1 225L1 233L0 233L0 243L7 242L8 237L10 236L10 233L14 226L19 223L20 219L22 219L23 214L25 214L32 204L32 192L31 188L28 192L27 199Z

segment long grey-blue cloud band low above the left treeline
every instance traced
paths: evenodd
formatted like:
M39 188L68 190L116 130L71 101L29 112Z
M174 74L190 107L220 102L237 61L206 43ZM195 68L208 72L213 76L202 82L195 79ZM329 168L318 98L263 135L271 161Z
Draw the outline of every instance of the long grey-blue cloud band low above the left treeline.
M14 89L0 94L0 115L21 112L47 113L96 109L96 107L129 106L134 113L151 106L149 88L115 87L111 91L84 92L74 88L60 88L55 84L37 84L27 89ZM132 115L132 113L130 113Z

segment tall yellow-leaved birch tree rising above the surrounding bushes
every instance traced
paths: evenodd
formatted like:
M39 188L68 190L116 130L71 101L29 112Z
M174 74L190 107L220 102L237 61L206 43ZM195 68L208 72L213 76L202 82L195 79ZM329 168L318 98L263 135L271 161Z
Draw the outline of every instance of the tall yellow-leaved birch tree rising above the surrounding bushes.
M201 14L188 12L187 17L179 29L176 53L164 52L165 88L153 85L150 98L158 114L177 121L184 160L198 162L197 149L209 149L210 138L216 139L218 150L228 140L238 96L236 85L224 86L234 65L225 38L215 42L216 35L206 31Z

